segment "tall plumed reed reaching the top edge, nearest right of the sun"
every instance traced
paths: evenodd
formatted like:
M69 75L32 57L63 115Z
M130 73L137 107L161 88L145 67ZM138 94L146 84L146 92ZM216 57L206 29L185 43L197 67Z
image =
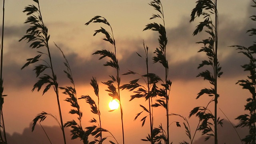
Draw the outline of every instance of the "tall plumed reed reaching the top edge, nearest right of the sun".
M159 33L159 48L156 48L154 53L156 56L153 57L154 63L159 62L164 66L164 80L162 80L162 88L158 88L157 95L159 96L159 99L156 100L155 104L152 104L153 107L162 106L166 110L166 133L164 132L164 129L162 127L162 124L159 126L159 128L156 128L155 131L159 132L161 131L162 134L160 137L157 137L157 141L160 141L161 139L164 140L165 144L170 143L170 132L169 132L169 95L170 95L170 87L172 85L172 82L168 80L168 73L169 73L169 66L168 66L168 60L166 56L166 45L167 45L167 36L166 36L166 29L165 29L165 21L164 21L164 10L163 6L160 0L152 0L149 3L150 6L152 6L158 14L152 14L151 19L154 18L160 18L162 20L162 24L157 24L156 22L149 23L146 25L144 30L153 30L157 31Z

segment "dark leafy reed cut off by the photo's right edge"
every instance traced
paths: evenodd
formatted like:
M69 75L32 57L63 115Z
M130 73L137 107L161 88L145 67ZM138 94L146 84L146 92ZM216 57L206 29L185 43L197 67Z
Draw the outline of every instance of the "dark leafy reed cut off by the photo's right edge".
M254 3L252 7L256 7L256 1L252 0ZM251 20L256 21L256 16L253 15L250 17ZM256 29L251 28L247 30L250 33L250 36L256 35ZM243 89L249 90L251 97L247 98L247 104L244 106L244 110L248 111L246 114L242 114L236 118L239 120L238 127L249 127L249 134L242 139L246 144L255 144L256 143L256 41L249 47L245 46L233 46L239 50L239 53L244 54L250 61L248 64L242 65L244 71L250 72L250 75L247 76L247 79L238 80L236 84L242 86Z

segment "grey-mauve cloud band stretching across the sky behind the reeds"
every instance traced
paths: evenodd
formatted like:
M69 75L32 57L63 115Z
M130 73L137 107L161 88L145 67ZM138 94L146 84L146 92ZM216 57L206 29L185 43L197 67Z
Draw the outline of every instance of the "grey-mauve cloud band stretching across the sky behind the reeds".
M249 13L254 12L254 9L248 8ZM184 17L180 24L175 28L167 29L168 34L168 60L170 67L169 78L171 80L193 80L196 75L202 70L198 70L198 64L204 59L207 59L204 53L197 53L202 45L196 44L196 42L207 38L208 36L202 32L198 36L192 36L192 32L195 29L196 23L189 23L189 17ZM235 48L228 46L250 45L253 42L253 37L249 37L246 34L246 30L253 27L253 23L249 18L245 20L234 21L228 17L220 15L219 25L219 60L222 70L224 72L223 78L232 78L238 75L243 75L244 72L240 65L248 62L246 57L242 54L238 54ZM27 28L24 26L7 26L5 30L6 38L8 38L8 50L4 55L4 82L7 85L13 86L32 86L36 82L35 74L32 71L33 66L28 66L24 70L20 68L25 64L27 58L32 58L36 55L36 50L29 50L29 44L25 41L17 42L19 38L24 34L24 30ZM152 56L154 55L154 49L157 44L158 34L154 32L152 36L145 39L146 45L149 46L150 57L150 72L154 72L160 76L163 76L164 69L161 64L152 64ZM142 38L130 38L123 39L117 38L118 43L118 59L120 64L120 72L123 74L128 70L136 71L141 74L146 73L146 65L142 58L140 58L136 52L140 53L144 57L144 49L142 45ZM95 50L107 49L111 50L111 45L108 45L102 40L98 40L98 43L93 43L90 50L86 52L94 52ZM98 78L99 81L105 81L108 79L108 75L113 75L115 70L110 67L104 67L102 64L106 62L106 58L98 60L99 56L92 56L87 54L87 57L76 53L70 52L72 48L65 47L65 44L59 44L67 59L69 60L72 68L72 73L77 84L88 84L92 76ZM51 46L52 60L54 62L54 70L56 71L58 82L60 85L68 84L63 70L64 58L60 51L55 46ZM66 53L68 50L68 53ZM162 72L161 72L162 71ZM124 76L123 80L131 80L132 78Z

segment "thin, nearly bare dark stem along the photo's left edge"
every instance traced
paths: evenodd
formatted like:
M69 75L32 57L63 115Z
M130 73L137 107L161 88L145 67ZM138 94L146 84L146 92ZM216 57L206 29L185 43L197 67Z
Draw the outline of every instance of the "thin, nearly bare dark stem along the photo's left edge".
M3 86L3 54L4 54L4 2L3 0L3 20L2 20L2 39L1 39L1 64L0 64L0 142L3 144L7 144L6 132L4 126L4 114L3 114L3 104L4 104L4 86ZM2 137L2 130L4 134L4 138Z

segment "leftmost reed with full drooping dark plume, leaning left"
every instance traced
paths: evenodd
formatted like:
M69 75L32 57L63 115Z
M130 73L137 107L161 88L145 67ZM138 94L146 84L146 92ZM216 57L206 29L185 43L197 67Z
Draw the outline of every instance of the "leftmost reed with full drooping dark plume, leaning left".
M57 76L54 73L54 68L52 66L52 57L50 53L50 46L49 46L49 39L50 35L48 34L48 28L45 26L41 10L40 10L40 4L38 0L33 0L36 2L37 6L35 5L29 5L26 6L23 12L26 12L28 15L28 18L25 21L25 24L30 24L31 26L26 31L26 35L24 35L19 41L21 40L27 40L27 42L30 42L30 48L39 49L39 48L46 48L46 53L42 51L38 51L38 55L36 55L34 58L28 58L26 64L22 66L21 69L25 68L26 66L34 63L40 64L36 65L34 68L34 71L36 73L36 77L39 80L34 84L32 91L36 90L40 91L42 86L46 85L43 90L43 95L53 86L54 92L56 94L57 104L58 104L58 111L60 116L60 127L63 134L64 144L66 144L66 137L64 132L64 125L62 120L62 113L60 108L60 100L59 100L59 88L58 88L58 82L57 82ZM41 56L46 56L46 59L41 58ZM48 74L45 72L45 70L50 69L50 73ZM46 112L42 112L36 116L33 120L33 126L32 131L34 130L34 127L38 120L42 122L46 116L49 115Z

